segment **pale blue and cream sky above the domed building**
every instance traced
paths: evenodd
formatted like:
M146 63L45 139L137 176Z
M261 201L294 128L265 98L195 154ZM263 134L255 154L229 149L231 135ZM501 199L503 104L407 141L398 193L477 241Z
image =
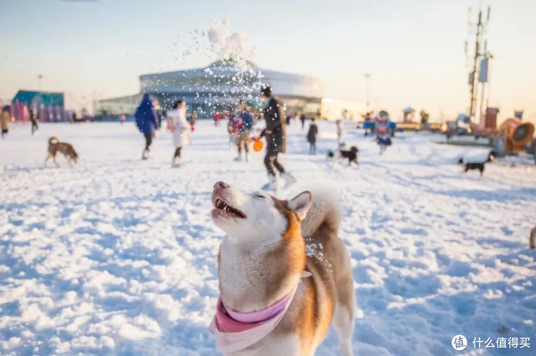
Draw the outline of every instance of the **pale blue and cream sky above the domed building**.
M536 116L536 2L491 0L490 103ZM138 75L207 64L181 56L190 31L228 18L251 37L263 68L311 74L326 94L364 101L397 117L404 107L455 115L468 105L463 43L473 0L0 0L0 97L19 88L68 93L77 107L92 97L139 91ZM475 15L473 11L473 15ZM474 18L475 16L473 16ZM178 57L178 58L177 58Z

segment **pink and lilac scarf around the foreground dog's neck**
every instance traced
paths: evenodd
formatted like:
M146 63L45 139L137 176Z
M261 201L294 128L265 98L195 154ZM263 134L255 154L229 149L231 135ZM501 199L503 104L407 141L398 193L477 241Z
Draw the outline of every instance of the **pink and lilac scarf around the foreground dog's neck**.
M302 277L307 276L310 276L310 273L304 271ZM216 315L209 329L216 337L218 351L221 353L240 351L270 334L291 306L298 284L281 300L257 312L236 312L227 308L221 297L218 298Z

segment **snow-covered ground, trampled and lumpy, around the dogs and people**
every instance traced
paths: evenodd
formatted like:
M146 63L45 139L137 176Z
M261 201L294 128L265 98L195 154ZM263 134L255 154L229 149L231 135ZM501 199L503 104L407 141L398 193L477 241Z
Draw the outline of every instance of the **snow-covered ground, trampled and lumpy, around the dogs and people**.
M490 164L460 174L460 155L424 133L399 134L383 155L360 132L359 168L331 168L334 126L307 155L294 124L282 158L299 181L338 191L340 236L352 256L356 355L529 355L536 348L536 167ZM224 125L199 122L185 166L170 168L168 134L140 161L133 124L14 127L0 141L0 354L213 355L207 329L218 295L222 232L210 219L217 180L256 190L262 153L232 162ZM49 135L72 142L74 169L43 169ZM51 165L52 163L49 162ZM455 351L451 339L469 345ZM494 349L473 339L494 339ZM531 349L497 349L530 337ZM318 355L338 354L333 330Z

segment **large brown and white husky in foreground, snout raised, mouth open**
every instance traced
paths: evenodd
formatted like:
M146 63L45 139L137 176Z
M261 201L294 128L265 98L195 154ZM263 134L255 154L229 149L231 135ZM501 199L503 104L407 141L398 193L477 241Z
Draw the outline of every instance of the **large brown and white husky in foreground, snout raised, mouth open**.
M218 320L217 311L211 325L218 350L244 356L313 355L333 321L341 354L353 355L353 275L337 234L336 199L305 191L279 200L261 192L245 194L220 181L212 203L212 220L226 233L218 254L218 308L224 309L217 309L226 319ZM271 313L273 321L274 306L285 300L288 305L276 314L280 321L265 335L254 328L244 332L244 340L229 332L266 323L250 320L251 315ZM235 315L245 319L235 320ZM224 330L226 323L231 328Z

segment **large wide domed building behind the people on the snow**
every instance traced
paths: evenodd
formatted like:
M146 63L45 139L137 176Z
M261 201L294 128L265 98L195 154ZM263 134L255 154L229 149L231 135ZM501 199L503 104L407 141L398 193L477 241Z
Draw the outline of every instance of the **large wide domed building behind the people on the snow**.
M322 80L247 64L242 69L232 60L218 60L204 68L140 75L140 94L102 100L96 109L109 116L130 115L142 94L152 94L164 109L182 99L187 102L188 110L197 110L200 117L212 117L216 111L234 110L240 99L252 106L261 105L262 84L273 88L287 112L303 111L310 104L319 106L324 97Z

